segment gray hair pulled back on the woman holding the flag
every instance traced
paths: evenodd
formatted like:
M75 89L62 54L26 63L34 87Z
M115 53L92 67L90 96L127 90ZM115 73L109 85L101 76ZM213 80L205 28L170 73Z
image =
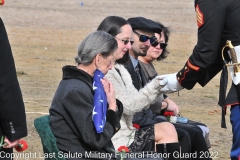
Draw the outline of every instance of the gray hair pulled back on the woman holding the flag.
M76 63L90 65L97 54L107 57L117 49L116 39L104 31L90 33L78 46Z

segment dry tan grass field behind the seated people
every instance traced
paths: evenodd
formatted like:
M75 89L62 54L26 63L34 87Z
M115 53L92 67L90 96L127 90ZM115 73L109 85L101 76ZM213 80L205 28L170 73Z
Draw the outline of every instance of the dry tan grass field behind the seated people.
M143 16L161 21L171 28L170 55L155 62L159 74L174 73L183 67L197 40L194 1L152 0L113 1L88 0L6 1L0 7L15 58L28 122L29 143L25 157L44 159L40 138L33 125L35 118L48 114L51 100L62 77L62 66L74 65L79 42L109 15L124 18ZM81 5L83 4L83 5ZM210 128L211 153L219 160L228 160L232 133L220 127L217 105L219 75L204 88L196 85L169 96L179 105L183 116L205 123ZM27 158L27 154L32 157ZM36 155L34 157L34 155Z

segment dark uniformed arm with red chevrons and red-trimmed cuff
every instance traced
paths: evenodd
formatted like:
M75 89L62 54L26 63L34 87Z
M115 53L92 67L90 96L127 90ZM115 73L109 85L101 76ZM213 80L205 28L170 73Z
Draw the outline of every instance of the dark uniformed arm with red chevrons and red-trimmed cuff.
M218 54L223 33L226 8L220 1L200 1L196 5L198 17L198 42L185 66L177 73L181 86L192 89L198 82L207 84L219 71L215 63L222 63ZM211 74L206 71L211 70Z

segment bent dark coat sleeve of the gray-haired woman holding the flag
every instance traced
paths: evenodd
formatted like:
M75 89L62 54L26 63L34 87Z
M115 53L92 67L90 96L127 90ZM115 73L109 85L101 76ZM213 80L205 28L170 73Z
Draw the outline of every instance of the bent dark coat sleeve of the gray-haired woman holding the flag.
M84 90L71 90L63 100L66 110L66 120L75 126L77 136L85 145L95 150L106 146L113 135L120 129L120 122L116 112L107 110L106 124L102 133L97 133L92 121L93 100L92 95L86 95ZM71 126L72 126L71 125Z

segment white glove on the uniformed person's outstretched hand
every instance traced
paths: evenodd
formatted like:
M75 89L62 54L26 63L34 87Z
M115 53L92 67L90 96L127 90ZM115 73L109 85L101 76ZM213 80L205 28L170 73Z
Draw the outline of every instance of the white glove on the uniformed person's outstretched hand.
M183 89L183 87L177 81L176 74L177 73L157 76L157 79L160 80L160 85L164 86L161 89L162 93L171 93Z

